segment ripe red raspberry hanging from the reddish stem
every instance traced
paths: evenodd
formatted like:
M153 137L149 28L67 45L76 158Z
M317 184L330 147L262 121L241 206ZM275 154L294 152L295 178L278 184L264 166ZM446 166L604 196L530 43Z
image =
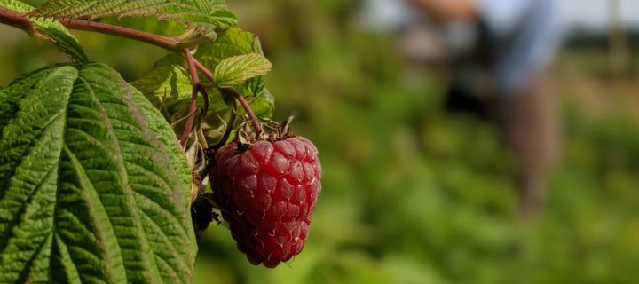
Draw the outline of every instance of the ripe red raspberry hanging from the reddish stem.
M299 254L321 191L312 142L301 137L233 142L215 159L213 198L248 261L272 268Z

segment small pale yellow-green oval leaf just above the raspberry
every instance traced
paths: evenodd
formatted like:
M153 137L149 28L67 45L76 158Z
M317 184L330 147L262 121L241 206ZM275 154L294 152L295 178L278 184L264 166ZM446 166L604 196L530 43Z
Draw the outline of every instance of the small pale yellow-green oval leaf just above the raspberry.
M271 62L258 53L233 56L220 61L215 68L215 82L220 88L231 88L271 71Z

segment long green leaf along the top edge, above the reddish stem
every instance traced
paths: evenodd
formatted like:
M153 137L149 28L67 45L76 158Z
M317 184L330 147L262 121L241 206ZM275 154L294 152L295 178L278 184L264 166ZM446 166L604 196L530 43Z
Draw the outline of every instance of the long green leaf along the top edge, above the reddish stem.
M34 15L95 20L107 16L118 18L154 16L201 30L206 35L215 28L237 24L225 0L50 0Z

